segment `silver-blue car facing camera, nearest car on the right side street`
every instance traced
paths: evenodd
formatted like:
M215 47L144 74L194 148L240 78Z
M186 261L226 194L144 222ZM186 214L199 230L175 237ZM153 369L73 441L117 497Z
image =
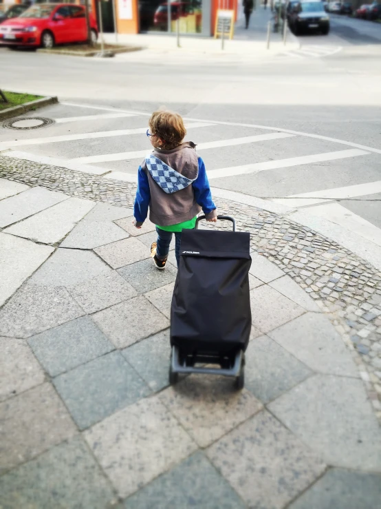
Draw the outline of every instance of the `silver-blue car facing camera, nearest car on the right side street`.
M329 33L329 16L320 0L298 2L292 8L289 20L290 29L295 35L310 30L324 35Z

